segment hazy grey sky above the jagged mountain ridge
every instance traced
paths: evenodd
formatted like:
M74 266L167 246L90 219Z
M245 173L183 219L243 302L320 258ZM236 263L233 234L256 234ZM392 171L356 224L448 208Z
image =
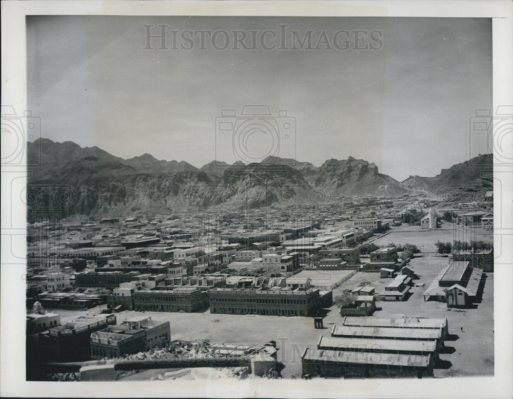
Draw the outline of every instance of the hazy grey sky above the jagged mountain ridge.
M156 35L158 24L177 31L176 47L196 33L192 48L169 49L167 32L168 49L160 39L145 49L144 25ZM201 49L200 30L228 32L228 48L220 33ZM236 44L235 30L249 48L257 32L260 49ZM312 31L310 48L328 45L290 49L292 30ZM262 37L276 48L262 49ZM352 156L402 181L487 152L469 120L492 107L491 39L489 18L28 16L28 107L42 137L122 158L201 167L275 155L320 166Z

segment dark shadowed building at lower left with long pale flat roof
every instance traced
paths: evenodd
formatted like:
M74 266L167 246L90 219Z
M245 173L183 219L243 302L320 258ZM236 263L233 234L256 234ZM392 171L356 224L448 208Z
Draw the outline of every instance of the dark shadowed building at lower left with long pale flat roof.
M43 358L54 362L83 362L91 359L91 333L116 324L114 315L82 316L39 334Z

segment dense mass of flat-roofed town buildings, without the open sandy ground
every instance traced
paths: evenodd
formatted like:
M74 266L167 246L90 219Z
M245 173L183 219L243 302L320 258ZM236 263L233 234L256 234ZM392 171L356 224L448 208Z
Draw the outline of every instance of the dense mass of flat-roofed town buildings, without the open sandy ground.
M145 316L116 324L112 312L319 317L333 305L332 290L343 281L357 272L379 272L391 279L383 291L365 283L352 290L354 300L340 309L342 324L305 349L303 373L432 376L446 320L370 316L376 300L406 300L416 275L406 252L390 246L368 253L362 245L409 212L427 211L416 223L436 229L442 212L435 211L437 200L405 195L340 201L344 211L340 204L324 204L308 210L315 215L310 218L268 208L251 215L205 210L33 223L28 227L27 334L37 337L37 351L46 361L122 357L168 344L170 325ZM467 226L493 221L493 215L469 207L449 211ZM492 251L453 251L424 298L469 306L482 288L483 272L493 268ZM62 325L55 311L98 305L105 305L105 313Z

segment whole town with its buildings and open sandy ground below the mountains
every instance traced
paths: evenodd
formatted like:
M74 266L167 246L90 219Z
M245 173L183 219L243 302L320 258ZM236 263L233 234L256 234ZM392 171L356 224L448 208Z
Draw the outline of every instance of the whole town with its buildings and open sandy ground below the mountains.
M492 196L34 220L27 379L194 379L168 363L201 353L238 378L492 375Z

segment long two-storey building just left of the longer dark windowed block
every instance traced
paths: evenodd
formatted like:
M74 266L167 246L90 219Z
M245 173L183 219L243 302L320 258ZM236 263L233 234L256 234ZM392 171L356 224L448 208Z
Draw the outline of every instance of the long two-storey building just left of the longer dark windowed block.
M198 312L208 308L208 292L195 287L155 287L133 293L135 310Z

